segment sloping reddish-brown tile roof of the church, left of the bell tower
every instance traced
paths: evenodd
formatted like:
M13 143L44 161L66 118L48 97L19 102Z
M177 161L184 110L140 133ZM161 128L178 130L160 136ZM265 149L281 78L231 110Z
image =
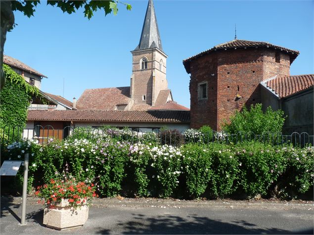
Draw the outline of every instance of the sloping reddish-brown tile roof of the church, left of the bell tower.
M77 106L85 110L116 110L117 105L128 104L130 86L86 89Z

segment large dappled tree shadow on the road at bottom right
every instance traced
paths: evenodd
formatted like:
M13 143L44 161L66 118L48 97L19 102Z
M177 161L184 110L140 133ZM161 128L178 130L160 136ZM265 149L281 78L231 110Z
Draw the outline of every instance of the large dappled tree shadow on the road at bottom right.
M211 220L206 217L172 215L147 217L133 214L134 219L127 223L119 222L122 234L296 234L282 229L260 229L246 221L231 223ZM110 234L107 229L95 231L97 234ZM308 234L309 231L301 234ZM313 232L313 231L312 231ZM312 233L313 234L313 233Z

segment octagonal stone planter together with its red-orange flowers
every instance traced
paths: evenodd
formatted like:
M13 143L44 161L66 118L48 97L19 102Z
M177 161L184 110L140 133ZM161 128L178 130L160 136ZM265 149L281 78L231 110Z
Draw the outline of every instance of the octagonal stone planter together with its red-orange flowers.
M35 193L44 203L44 222L47 227L66 230L82 227L89 217L89 201L95 194L94 185L77 181L71 175L56 178L37 188Z

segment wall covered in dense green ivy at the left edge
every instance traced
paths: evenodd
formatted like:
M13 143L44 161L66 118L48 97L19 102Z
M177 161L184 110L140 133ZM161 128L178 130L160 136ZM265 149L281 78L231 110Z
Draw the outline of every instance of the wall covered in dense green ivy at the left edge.
M0 127L5 125L24 127L27 108L33 96L41 97L37 87L27 83L9 66L3 65L6 83L0 91Z

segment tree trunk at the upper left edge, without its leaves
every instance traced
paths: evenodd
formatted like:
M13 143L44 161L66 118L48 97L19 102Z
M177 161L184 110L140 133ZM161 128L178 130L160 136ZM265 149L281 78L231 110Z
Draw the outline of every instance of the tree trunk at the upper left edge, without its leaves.
M1 32L0 32L0 42L1 42L1 55L0 55L0 65L1 65L1 78L0 78L0 89L5 84L5 74L2 68L3 64L3 50L4 50L4 43L6 39L7 31L13 26L14 24L14 14L12 11L12 3L11 1L2 1L0 2L1 7Z

